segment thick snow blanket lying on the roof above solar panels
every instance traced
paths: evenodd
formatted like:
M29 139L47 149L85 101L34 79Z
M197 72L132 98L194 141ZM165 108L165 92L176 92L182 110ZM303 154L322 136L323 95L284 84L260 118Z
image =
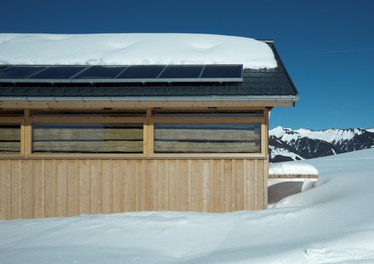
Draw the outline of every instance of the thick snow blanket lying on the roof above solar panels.
M243 64L276 68L270 47L213 34L0 34L0 64Z

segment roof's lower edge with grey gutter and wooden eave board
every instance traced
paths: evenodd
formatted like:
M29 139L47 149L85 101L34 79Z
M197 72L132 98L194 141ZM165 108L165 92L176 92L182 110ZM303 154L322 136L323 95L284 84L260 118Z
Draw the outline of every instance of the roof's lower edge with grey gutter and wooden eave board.
M294 106L296 96L0 97L0 108L144 108Z

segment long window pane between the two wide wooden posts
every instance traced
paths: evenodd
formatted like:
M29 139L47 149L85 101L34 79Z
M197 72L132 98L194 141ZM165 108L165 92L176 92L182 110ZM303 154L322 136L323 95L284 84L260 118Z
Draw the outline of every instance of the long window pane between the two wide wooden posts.
M143 153L143 124L34 123L33 153Z

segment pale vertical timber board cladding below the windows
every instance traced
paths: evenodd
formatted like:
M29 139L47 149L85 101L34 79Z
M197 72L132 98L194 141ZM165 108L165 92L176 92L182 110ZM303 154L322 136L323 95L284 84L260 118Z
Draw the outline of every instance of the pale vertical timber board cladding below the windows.
M262 209L267 174L266 159L1 159L0 219Z

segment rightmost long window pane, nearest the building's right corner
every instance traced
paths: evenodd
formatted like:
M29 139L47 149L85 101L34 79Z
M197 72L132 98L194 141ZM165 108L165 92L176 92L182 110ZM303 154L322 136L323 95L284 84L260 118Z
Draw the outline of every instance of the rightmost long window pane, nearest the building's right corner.
M260 123L156 123L155 153L260 153Z

